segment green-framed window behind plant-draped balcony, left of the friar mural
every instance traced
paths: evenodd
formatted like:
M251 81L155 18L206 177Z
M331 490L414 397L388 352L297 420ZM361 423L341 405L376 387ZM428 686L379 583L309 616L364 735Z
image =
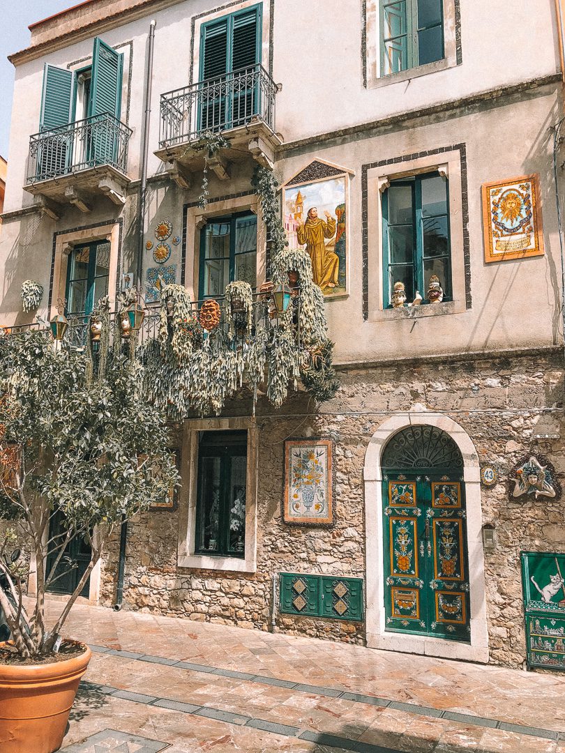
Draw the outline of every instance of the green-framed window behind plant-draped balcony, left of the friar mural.
M199 298L217 298L228 282L257 286L257 216L214 217L200 230Z

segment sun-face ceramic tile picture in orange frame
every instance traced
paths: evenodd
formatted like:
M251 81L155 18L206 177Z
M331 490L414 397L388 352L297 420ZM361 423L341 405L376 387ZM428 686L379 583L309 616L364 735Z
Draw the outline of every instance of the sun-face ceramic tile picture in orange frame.
M543 255L537 175L483 185L484 261Z

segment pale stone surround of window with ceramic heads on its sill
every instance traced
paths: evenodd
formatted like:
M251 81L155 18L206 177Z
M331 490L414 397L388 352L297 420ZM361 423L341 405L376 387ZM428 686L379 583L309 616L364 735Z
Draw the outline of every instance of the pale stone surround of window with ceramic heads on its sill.
M423 304L414 309L389 309L383 300L383 213L381 197L390 181L438 171L449 181L451 285L453 300ZM367 171L368 321L382 322L407 317L437 316L466 310L465 258L463 255L463 189L460 151L429 154L414 160L369 168ZM427 282L426 282L427 285ZM426 297L426 291L420 294Z

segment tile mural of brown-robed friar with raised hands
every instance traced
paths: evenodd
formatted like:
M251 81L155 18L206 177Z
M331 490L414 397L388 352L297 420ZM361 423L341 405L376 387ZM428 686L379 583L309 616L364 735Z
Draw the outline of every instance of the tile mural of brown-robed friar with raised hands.
M313 279L326 297L347 293L348 175L283 188L282 206L290 248L304 248Z

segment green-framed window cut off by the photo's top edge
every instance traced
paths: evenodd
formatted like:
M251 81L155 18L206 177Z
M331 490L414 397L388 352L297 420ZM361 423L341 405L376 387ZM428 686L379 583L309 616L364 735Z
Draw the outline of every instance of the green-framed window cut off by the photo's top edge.
M380 0L380 75L445 56L443 0Z

